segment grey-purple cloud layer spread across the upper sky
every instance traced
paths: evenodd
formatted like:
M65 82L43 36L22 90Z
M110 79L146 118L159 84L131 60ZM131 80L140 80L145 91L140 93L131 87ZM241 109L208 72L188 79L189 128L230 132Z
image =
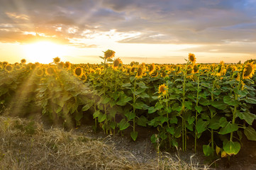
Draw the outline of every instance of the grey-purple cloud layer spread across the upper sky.
M0 42L13 42L15 37L16 42L37 38L23 35L27 31L74 46L96 47L94 42L72 40L88 40L110 30L120 35L137 33L118 40L119 43L225 45L245 40L256 42L255 0L0 2L0 23L5 25L0 25Z

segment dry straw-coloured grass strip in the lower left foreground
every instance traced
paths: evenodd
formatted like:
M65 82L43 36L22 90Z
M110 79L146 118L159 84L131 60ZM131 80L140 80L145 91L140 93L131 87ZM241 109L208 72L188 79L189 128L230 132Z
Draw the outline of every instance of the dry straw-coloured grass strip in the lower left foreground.
M139 164L127 154L102 140L0 116L0 169L207 169L171 157Z

